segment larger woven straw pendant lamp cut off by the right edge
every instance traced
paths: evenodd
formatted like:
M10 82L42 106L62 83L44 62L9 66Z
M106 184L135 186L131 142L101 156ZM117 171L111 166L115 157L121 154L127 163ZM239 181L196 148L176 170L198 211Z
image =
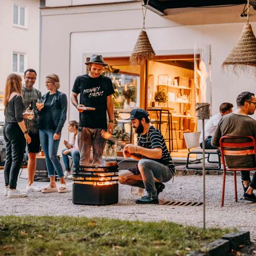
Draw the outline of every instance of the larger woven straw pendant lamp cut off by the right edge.
M239 71L256 73L256 37L248 18L249 1L247 1L247 24L236 45L222 64L222 68L232 68L234 73Z

